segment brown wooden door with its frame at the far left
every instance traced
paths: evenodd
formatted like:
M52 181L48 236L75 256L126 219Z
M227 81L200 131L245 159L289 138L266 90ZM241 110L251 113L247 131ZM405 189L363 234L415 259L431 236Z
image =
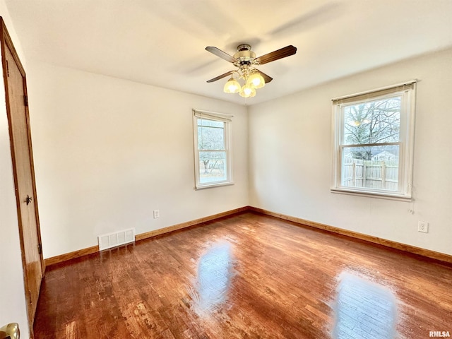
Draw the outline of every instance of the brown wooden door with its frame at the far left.
M37 213L28 97L25 71L18 59L4 22L1 18L0 20L1 59L4 71L6 112L8 114L14 184L16 188L25 299L28 304L28 322L30 331L32 331L44 265Z

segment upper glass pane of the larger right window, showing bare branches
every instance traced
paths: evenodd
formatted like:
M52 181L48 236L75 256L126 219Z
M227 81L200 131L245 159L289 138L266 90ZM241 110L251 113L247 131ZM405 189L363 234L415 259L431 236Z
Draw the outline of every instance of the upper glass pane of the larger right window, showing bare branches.
M344 145L399 141L401 97L343 107Z

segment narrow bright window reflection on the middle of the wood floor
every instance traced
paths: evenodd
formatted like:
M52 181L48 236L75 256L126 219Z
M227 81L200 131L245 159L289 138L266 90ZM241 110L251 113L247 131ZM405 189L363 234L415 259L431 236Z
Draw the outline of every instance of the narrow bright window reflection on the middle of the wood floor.
M211 314L221 306L234 276L231 244L218 242L199 258L195 291L190 291L193 309L198 315Z

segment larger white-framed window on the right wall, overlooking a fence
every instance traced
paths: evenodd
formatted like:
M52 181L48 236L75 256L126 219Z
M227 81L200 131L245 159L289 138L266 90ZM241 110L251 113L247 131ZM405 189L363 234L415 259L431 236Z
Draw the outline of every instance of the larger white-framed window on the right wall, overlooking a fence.
M331 191L410 200L415 81L333 99Z

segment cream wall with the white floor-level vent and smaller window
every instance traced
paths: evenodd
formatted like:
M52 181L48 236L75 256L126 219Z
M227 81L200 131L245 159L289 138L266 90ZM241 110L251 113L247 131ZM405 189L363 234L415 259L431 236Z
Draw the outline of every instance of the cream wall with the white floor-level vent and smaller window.
M248 205L246 107L31 60L28 93L45 258ZM194 190L193 108L234 115L233 186Z

